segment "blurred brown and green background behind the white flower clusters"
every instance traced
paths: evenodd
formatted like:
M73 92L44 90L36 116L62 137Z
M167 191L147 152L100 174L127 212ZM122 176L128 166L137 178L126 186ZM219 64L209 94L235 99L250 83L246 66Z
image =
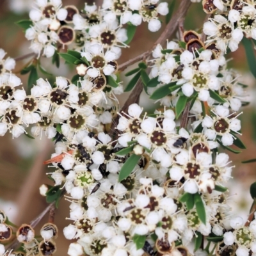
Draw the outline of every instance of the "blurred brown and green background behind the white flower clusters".
M98 2L100 5L100 1ZM81 0L63 0L63 4L74 4L79 9L84 7L84 1ZM28 19L28 12L33 6L35 6L33 0L0 1L0 48L7 52L6 56L16 58L31 52L29 49L30 43L24 37L22 29L15 22ZM201 4L193 4L186 16L185 29L202 29L204 19L205 13L202 12ZM162 30L163 28L164 23ZM161 31L150 33L147 24L140 26L136 31L130 49L123 51L118 63L123 63L150 49L160 34ZM229 183L230 204L233 205L234 212L241 214L246 220L252 204L249 188L250 184L256 180L256 163L242 164L241 161L256 158L256 83L248 71L242 45L234 54L229 54L228 58L233 58L232 62L230 61L228 64L230 68L236 68L243 74L240 82L250 86L248 95L250 95L251 104L242 109L244 114L240 116L242 120L242 140L247 149L238 155L227 152L236 166L233 172L234 179L230 180ZM14 72L19 72L28 61L29 59L18 61ZM45 59L42 60L42 66L46 70L51 70L54 76L65 76L71 79L74 75L74 70L65 67L63 63L60 68L56 68L51 66L51 60ZM22 79L24 88L26 88L28 76L19 77ZM45 78L44 75L41 77ZM125 81L125 77L123 78ZM54 78L52 77L52 79ZM129 97L129 93L124 93L119 98L121 105L124 104L127 97ZM153 108L153 103L148 100L147 95L141 95L141 106L145 109ZM0 138L0 209L6 211L10 220L15 224L29 223L47 206L45 198L40 196L38 188L41 184L52 184L51 180L47 179L47 175L45 175L45 173L51 172L51 169L45 167L43 162L49 159L53 151L53 143L44 138L42 140L31 140L26 136L20 136L20 138L12 140L10 134ZM234 202L232 203L232 201ZM65 219L69 216L68 205L68 202L61 200L60 207L56 210L55 221L60 229L60 235L56 241L58 247L56 256L67 255L68 244L70 243L62 235L63 228L70 223ZM45 216L36 227L37 232L47 222L47 218L48 216Z

